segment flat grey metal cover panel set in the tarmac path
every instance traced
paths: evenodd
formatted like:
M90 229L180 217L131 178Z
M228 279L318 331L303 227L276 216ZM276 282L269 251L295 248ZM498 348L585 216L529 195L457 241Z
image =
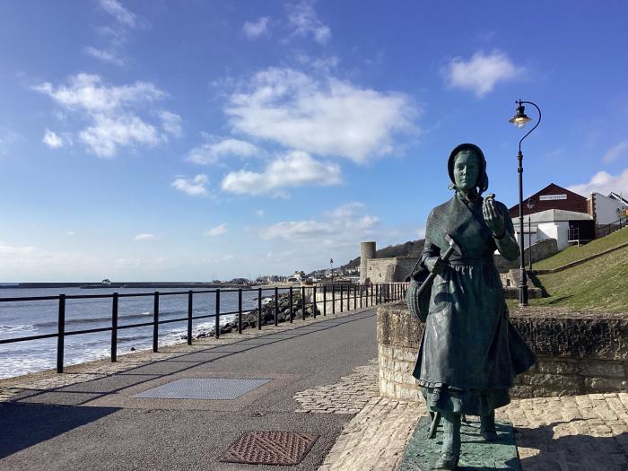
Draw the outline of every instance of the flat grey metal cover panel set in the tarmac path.
M236 399L271 379L184 378L148 389L133 397L155 399Z

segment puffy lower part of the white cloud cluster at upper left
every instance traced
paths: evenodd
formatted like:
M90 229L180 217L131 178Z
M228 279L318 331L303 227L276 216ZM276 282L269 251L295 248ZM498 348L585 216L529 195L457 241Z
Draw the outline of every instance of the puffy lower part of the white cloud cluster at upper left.
M160 143L154 126L136 116L97 114L93 118L94 125L83 129L79 138L99 157L114 157L120 145Z

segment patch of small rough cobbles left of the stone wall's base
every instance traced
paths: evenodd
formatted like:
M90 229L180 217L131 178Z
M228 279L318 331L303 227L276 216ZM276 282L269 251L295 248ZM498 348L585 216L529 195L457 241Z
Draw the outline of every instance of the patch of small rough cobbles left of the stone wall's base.
M313 414L357 414L373 397L379 396L377 358L353 369L336 384L300 391L293 399L300 405L294 412Z

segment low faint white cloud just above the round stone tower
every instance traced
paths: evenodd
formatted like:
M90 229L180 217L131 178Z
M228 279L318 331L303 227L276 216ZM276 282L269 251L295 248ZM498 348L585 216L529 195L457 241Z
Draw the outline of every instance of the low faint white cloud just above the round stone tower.
M376 216L364 214L364 206L350 203L323 214L320 220L285 221L262 228L259 236L264 240L289 240L297 244L311 242L333 246L356 244L371 237L379 225Z

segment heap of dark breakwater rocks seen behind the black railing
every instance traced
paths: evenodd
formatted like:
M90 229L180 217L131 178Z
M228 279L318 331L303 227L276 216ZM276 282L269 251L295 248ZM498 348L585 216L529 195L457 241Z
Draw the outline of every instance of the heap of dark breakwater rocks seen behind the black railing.
M267 300L267 301L266 301ZM288 293L280 293L275 300L275 296L268 296L265 298L265 301L262 304L262 326L266 326L268 324L275 324L275 304L277 305L277 323L281 322L289 322L290 321L290 295ZM314 316L315 313L318 316L321 314L318 306L314 304L309 304L308 294L305 295L305 318L309 318L310 316ZM292 292L292 318L303 318L303 306L301 302L301 291ZM230 316L233 317L232 314L225 314L224 317ZM245 328L254 328L257 327L259 322L259 310L249 310L246 312L242 312L242 329ZM207 336L214 336L215 327L211 327L204 332L199 332L196 334L195 338L205 338ZM235 315L233 320L226 322L221 325L220 333L221 334L229 334L232 331L238 330L238 315ZM181 336L181 340L187 340L188 336Z

